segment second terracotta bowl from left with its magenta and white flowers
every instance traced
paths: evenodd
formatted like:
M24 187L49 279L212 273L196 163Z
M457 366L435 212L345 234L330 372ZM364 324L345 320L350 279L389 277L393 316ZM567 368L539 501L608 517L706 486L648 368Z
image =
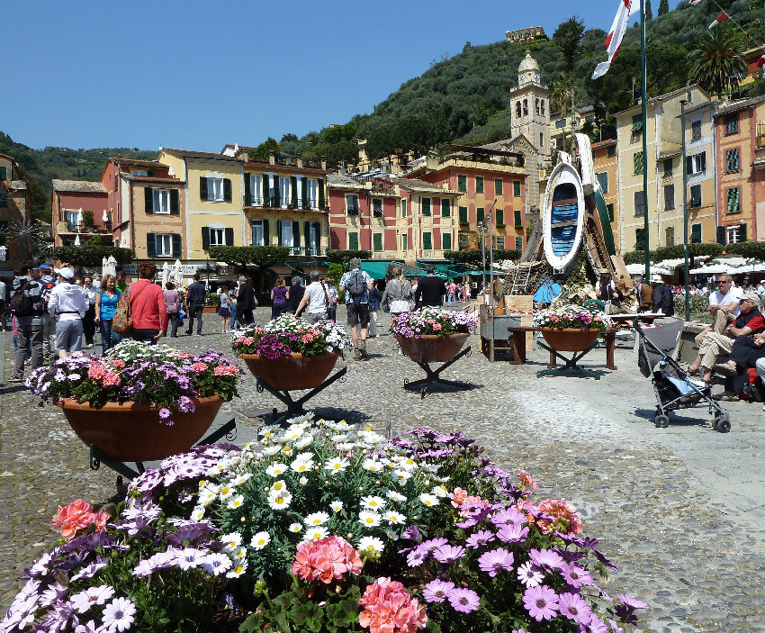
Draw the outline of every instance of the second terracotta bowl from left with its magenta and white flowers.
M253 375L277 390L318 387L338 355L353 343L345 328L330 321L309 323L292 314L235 335L232 347Z

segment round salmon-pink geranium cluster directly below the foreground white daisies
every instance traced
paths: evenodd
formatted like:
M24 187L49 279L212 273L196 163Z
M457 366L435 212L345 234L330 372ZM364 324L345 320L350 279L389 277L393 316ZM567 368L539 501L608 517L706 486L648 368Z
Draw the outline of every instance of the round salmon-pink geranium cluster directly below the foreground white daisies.
M361 574L362 562L358 552L345 538L327 537L303 541L293 562L293 574L311 583L320 580L329 584L343 574Z

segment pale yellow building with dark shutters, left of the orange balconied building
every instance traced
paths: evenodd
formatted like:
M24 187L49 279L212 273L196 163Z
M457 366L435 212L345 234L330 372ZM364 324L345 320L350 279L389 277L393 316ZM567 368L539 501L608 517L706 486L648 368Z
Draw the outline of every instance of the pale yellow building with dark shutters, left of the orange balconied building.
M205 151L162 149L158 161L185 183L184 254L206 260L211 246L243 246L246 238L243 163ZM136 236L136 258L148 257L146 240Z

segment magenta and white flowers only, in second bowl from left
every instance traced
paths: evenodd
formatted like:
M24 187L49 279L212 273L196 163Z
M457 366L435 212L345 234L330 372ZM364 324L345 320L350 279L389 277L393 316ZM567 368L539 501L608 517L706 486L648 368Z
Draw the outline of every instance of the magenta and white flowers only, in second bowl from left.
M269 321L265 326L238 332L232 340L234 352L257 354L264 358L284 358L290 354L319 356L353 347L343 326L331 321L310 324L292 314Z

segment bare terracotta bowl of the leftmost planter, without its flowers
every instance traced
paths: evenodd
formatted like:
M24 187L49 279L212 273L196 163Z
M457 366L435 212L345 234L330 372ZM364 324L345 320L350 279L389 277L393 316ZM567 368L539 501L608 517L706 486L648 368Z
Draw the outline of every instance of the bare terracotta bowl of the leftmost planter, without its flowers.
M159 421L159 407L146 402L106 402L96 409L65 398L56 402L86 445L93 444L121 462L149 462L183 453L202 439L220 411L219 396L193 399L195 411L175 411L172 425Z

